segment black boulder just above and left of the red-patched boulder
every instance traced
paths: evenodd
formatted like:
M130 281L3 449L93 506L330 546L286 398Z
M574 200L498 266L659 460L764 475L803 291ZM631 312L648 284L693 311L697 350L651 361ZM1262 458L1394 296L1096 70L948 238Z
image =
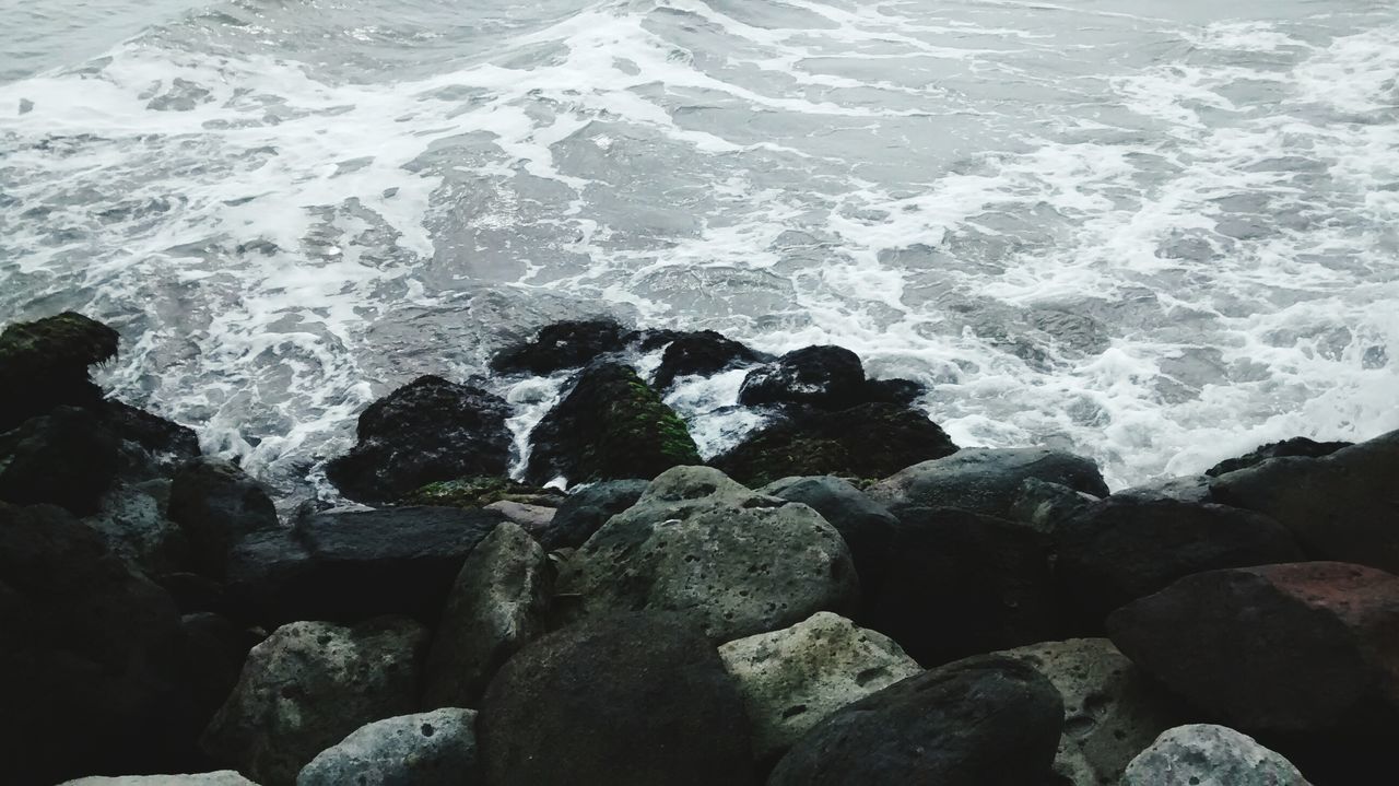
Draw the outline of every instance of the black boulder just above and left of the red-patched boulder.
M1055 578L1083 629L1171 582L1220 568L1301 559L1281 524L1226 505L1108 498L1059 527Z

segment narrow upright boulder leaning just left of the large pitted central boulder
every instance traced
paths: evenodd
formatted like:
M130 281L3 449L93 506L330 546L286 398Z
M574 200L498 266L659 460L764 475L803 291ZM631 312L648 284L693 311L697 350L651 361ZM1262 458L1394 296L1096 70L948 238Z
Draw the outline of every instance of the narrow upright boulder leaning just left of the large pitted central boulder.
M519 526L502 523L456 575L427 662L427 706L476 706L505 660L544 632L554 569Z

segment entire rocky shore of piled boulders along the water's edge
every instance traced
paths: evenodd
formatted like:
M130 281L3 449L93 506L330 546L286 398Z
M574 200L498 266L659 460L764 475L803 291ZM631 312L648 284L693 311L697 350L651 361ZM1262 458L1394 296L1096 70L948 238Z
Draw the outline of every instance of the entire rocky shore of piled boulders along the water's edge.
M1399 432L1108 494L1079 456L958 449L839 347L572 322L492 362L572 373L522 478L511 406L422 376L325 467L354 503L284 520L104 396L118 344L76 313L0 336L4 783L1399 771ZM706 463L665 393L732 369L765 425Z

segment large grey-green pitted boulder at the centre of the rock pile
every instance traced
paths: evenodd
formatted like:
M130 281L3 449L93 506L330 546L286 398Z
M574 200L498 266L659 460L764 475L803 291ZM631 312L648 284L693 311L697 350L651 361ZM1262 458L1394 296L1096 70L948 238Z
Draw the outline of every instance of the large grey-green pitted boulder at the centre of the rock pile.
M754 494L709 467L676 467L613 516L560 575L578 611L659 611L715 642L846 611L859 580L816 510Z

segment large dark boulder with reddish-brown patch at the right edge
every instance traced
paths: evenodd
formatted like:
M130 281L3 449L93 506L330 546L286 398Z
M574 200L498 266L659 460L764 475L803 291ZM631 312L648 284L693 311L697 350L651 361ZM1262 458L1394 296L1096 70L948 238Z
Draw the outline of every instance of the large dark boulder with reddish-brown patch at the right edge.
M1108 617L1112 642L1143 671L1251 733L1392 715L1395 631L1399 578L1342 562L1196 573Z

